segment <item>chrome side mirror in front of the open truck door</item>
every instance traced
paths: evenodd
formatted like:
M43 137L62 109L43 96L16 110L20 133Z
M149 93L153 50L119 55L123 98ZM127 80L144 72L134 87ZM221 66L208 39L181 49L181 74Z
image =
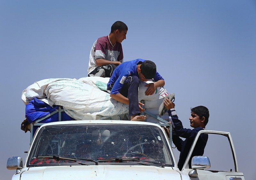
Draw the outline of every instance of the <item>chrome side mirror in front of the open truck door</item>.
M197 177L196 169L209 169L211 167L210 160L207 156L194 156L191 161L191 168L188 173L189 177Z

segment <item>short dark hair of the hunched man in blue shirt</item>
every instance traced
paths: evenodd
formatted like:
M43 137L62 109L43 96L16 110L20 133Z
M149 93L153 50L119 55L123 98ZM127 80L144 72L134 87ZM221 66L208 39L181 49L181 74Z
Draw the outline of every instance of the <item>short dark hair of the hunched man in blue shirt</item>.
M153 79L156 75L156 64L146 60L141 63L140 70L146 79Z

